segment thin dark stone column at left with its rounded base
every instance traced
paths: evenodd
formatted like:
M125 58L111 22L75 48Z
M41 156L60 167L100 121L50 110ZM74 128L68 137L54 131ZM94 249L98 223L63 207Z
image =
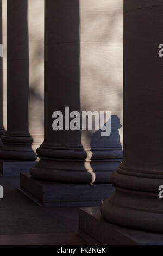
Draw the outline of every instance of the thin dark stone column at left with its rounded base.
M28 131L29 61L27 0L7 1L7 132L2 159L35 160Z

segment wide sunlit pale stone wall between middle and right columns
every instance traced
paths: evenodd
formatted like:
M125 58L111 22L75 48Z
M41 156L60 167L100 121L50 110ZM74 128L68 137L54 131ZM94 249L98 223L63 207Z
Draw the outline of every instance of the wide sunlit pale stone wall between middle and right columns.
M80 0L81 108L111 111L122 124L122 90L123 0ZM82 144L91 137L83 131Z

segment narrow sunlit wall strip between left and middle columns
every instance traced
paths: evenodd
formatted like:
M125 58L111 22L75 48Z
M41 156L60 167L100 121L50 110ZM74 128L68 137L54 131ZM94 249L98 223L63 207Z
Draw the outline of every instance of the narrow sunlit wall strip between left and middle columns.
M29 132L36 150L43 142L44 0L28 0Z

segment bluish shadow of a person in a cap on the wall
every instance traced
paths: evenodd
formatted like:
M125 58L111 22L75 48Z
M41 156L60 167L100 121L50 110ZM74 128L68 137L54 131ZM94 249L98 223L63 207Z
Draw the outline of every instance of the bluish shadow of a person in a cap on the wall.
M110 122L110 120L108 121ZM106 125L105 123L105 127ZM95 183L99 183L103 175L105 175L106 183L110 182L111 173L122 162L122 145L118 131L121 127L120 118L117 115L111 115L110 135L102 136L102 132L104 133L106 131L100 129L92 136L90 144L92 152L90 167L92 172L94 172L94 176L96 176L94 178Z

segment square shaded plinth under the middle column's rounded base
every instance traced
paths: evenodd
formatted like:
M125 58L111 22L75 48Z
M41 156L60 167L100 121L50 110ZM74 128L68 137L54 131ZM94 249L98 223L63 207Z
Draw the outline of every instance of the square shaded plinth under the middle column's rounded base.
M20 174L20 190L37 204L52 207L97 206L114 193L111 184L64 184Z

